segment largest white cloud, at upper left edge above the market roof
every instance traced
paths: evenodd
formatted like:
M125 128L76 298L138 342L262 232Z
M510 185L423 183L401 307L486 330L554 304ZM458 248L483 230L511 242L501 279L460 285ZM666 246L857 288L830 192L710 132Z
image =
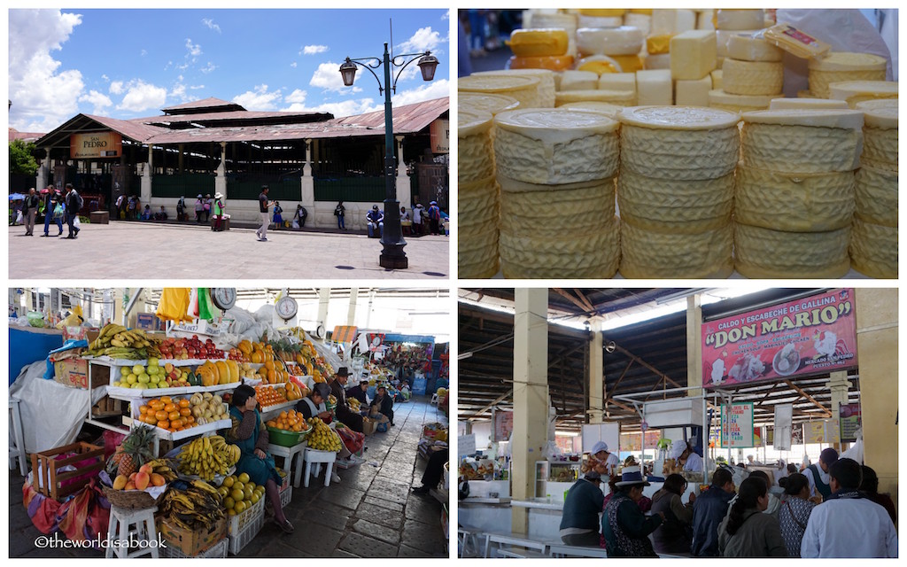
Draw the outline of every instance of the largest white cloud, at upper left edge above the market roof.
M61 69L52 52L62 49L82 16L60 10L9 10L9 125L50 132L79 112L82 73Z

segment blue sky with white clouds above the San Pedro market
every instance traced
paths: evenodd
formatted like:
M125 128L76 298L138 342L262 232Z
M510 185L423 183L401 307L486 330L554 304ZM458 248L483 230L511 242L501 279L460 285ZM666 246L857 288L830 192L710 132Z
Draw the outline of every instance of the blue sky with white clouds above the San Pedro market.
M209 97L250 111L372 112L384 107L372 75L345 87L338 68L385 42L440 60L433 82L415 64L397 82L395 105L417 103L449 94L449 31L448 10L11 9L9 124L49 132L79 112L129 119Z

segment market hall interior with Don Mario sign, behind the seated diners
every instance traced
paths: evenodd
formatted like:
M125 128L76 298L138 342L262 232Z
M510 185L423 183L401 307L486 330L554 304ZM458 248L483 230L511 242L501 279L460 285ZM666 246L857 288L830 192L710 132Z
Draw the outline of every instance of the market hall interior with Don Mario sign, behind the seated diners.
M833 448L896 506L897 304L892 288L459 289L461 555L607 556L562 543L565 499L590 472L607 497L634 464L643 496L677 473L687 503L719 467L777 492L787 464Z

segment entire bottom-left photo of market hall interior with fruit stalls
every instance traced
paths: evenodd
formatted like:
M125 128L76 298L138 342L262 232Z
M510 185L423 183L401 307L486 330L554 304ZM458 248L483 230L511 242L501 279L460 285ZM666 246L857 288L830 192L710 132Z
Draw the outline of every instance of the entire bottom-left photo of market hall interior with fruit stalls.
M447 294L10 289L10 555L446 558Z

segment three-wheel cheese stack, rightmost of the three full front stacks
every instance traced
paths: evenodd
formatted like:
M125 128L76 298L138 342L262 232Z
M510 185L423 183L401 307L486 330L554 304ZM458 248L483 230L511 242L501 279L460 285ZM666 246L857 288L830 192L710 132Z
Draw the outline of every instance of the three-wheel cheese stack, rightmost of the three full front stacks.
M747 278L840 278L850 269L863 112L745 112L735 265Z

